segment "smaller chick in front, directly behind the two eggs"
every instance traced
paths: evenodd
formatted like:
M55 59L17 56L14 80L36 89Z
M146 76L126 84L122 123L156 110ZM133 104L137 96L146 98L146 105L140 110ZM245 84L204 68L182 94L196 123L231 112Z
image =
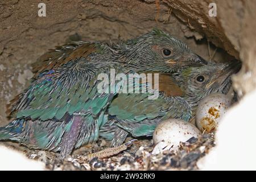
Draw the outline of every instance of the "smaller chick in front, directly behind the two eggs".
M112 144L116 146L128 134L133 137L151 136L155 127L166 119L177 118L188 122L204 97L210 93L228 92L232 85L230 76L240 68L240 62L231 61L184 68L171 74L159 73L159 97L148 100L150 93L118 94L108 107L113 119L102 126L101 135L112 137ZM174 96L170 90L176 90L176 93L179 90L180 95Z

